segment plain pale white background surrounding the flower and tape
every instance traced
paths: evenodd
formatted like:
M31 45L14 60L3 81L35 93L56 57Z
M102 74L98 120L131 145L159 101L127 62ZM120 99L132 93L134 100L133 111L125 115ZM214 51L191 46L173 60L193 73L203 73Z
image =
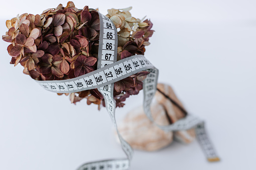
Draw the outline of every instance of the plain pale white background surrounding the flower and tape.
M0 32L17 14L41 14L67 1L3 1ZM206 120L221 161L209 163L197 141L172 143L155 152L135 151L131 169L255 169L255 1L74 1L107 14L133 6L155 33L145 56L172 85L186 108ZM45 91L22 66L13 68L8 43L0 41L0 169L75 169L103 158L123 157L107 111L70 104ZM117 119L142 103L142 93L117 109Z

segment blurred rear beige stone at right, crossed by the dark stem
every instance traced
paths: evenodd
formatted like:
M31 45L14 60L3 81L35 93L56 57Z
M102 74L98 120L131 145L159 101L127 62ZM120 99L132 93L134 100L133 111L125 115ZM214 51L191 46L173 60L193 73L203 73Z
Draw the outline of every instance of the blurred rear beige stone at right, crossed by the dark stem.
M170 123L175 123L177 120L183 118L186 116L187 112L182 104L182 102L178 99L176 94L174 93L174 90L172 87L170 87L167 84L158 83L157 84L157 91L155 93L155 99L156 101L163 105L167 112L167 116L169 116ZM164 93L164 94L162 94ZM166 95L166 96L164 96ZM172 101L170 101L173 100ZM180 107L174 104L177 103ZM183 143L190 143L196 138L196 132L195 129L189 129L189 130L181 130L174 132L175 139L183 142Z

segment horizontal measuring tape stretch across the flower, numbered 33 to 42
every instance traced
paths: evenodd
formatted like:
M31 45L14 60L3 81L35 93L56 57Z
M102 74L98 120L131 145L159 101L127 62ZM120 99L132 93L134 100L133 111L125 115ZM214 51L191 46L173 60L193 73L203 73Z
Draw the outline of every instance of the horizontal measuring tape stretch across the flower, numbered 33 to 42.
M48 91L74 93L104 87L151 68L154 66L143 55L135 55L76 78L36 82Z

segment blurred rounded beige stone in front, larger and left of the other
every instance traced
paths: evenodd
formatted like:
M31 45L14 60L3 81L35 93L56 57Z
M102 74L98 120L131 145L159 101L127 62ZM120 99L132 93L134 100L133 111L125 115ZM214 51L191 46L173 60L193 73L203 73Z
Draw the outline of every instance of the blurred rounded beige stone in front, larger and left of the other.
M162 105L151 104L151 113L159 125L169 121ZM146 151L158 150L173 141L173 132L165 132L155 126L145 115L143 107L130 111L118 126L120 134L134 148Z

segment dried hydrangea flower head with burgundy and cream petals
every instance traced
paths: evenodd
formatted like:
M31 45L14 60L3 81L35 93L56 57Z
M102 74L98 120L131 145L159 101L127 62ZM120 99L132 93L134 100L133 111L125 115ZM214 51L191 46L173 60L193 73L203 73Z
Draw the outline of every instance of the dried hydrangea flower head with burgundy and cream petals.
M118 29L118 60L144 54L154 32L152 23L132 17L131 9L111 9L106 15ZM78 10L68 2L66 7L60 4L41 15L18 15L7 20L6 26L9 31L2 38L11 43L7 48L10 63L20 63L23 72L35 80L71 79L97 69L100 20L98 12L88 6ZM148 73L142 71L114 84L117 107L123 107L126 98L139 93ZM97 104L99 109L105 106L97 89L65 95L74 104L87 98L88 105Z

